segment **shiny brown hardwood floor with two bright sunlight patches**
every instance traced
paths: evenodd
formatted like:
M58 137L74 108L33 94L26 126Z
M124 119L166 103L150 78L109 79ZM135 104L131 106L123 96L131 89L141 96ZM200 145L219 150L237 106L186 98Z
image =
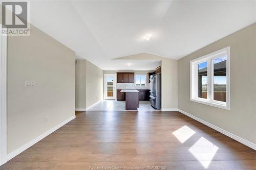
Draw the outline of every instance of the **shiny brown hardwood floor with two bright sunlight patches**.
M179 112L77 113L0 169L256 169L256 151Z

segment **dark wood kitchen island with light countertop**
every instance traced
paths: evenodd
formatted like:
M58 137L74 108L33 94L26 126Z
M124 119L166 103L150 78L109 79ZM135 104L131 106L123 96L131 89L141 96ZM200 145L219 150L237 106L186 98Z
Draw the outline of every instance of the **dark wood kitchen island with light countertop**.
M139 107L138 90L121 90L125 92L125 110L137 110Z

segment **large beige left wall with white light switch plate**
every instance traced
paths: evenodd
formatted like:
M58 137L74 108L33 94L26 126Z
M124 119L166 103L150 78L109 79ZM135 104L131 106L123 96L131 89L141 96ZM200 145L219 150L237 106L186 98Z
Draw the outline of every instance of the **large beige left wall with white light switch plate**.
M75 114L75 53L30 29L30 36L7 39L8 154Z

